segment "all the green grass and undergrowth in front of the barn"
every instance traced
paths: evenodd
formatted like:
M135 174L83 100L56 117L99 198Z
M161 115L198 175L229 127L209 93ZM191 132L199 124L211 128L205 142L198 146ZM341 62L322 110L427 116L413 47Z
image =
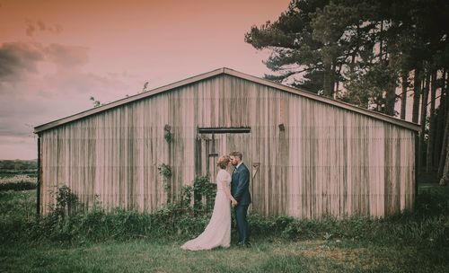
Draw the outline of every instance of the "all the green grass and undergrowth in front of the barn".
M427 194L418 197L415 212L383 219L251 214L251 249L189 252L180 244L209 219L190 207L139 213L96 206L38 218L34 190L4 191L0 271L447 272L447 198Z

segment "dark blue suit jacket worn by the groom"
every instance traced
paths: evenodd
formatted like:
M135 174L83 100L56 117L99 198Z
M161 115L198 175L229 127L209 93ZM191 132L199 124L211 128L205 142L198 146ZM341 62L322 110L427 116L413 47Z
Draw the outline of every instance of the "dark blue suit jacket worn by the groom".
M243 163L233 171L231 194L239 202L239 206L251 204L250 171Z

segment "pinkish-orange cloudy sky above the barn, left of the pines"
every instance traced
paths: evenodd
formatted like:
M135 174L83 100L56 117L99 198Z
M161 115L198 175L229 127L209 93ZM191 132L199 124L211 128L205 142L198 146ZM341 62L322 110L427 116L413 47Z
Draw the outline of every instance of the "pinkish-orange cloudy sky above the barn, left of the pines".
M219 67L262 76L244 42L289 0L0 0L0 159L37 158L33 127Z

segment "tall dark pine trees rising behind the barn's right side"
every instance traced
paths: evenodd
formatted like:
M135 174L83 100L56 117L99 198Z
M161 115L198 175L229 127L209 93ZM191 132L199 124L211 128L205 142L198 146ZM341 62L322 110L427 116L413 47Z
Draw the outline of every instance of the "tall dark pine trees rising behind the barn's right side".
M245 41L271 50L270 80L401 119L412 100L418 170L447 183L448 15L446 0L292 0Z

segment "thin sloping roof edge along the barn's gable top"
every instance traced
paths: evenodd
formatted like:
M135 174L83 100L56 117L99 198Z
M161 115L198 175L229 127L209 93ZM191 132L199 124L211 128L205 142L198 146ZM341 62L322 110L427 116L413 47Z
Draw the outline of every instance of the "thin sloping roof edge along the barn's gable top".
M187 78L185 80L182 80L182 81L179 81L179 82L176 82L176 83L173 83L173 84L164 85L164 86L155 88L153 90L150 90L148 92L138 93L136 95L129 96L129 97L121 99L119 101L113 101L113 102L110 102L108 104L101 105L100 107L92 108L90 110L85 110L83 112L77 113L77 114L72 115L72 116L68 116L68 117L63 118L63 119L57 119L57 120L54 120L54 121L42 124L42 125L37 126L37 127L34 128L34 133L38 134L38 133L40 133L42 131L45 131L45 130L48 130L50 128L56 128L56 127L58 127L60 125L63 125L63 124L66 124L66 123L70 123L70 122L75 121L77 119L84 119L85 117L89 117L89 116L92 116L92 115L94 115L96 113L99 113L99 112L102 112L102 111L105 111L105 110L110 110L112 108L119 107L120 105L127 104L127 103L129 103L131 101L142 100L144 98L154 96L155 94L158 94L158 93L161 93L161 92L170 91L170 90L172 90L174 88L178 88L178 87L181 87L181 86L184 86L184 85L187 85L187 84L193 84L193 83L196 83L198 81L202 81L202 80L205 80L207 78L214 77L216 75L233 75L235 77L242 78L242 79L245 79L245 80L248 80L248 81L251 81L251 82L254 82L254 83L258 83L258 84L263 84L263 85L266 85L266 86L269 86L269 87L273 87L273 88L276 88L276 89L281 90L281 91L294 93L294 94L297 94L299 96L311 99L313 101L321 101L323 103L327 103L327 104L330 104L330 105L333 105L333 106L336 106L336 107L339 107L339 108L342 108L342 109L350 110L350 111L353 111L353 112L357 112L359 114L362 114L362 115L365 115L365 116L369 116L369 117L372 117L374 119L380 119L380 120L392 123L392 124L394 124L396 126L400 126L402 128L408 128L408 129L411 129L411 130L414 130L414 131L419 131L419 126L416 123L412 123L412 122L405 121L405 120L402 120L402 119L395 119L395 118L393 118L391 116L384 115L382 113L375 112L373 110L366 110L366 109L354 106L354 105L346 103L346 102L332 100L330 98L319 96L319 95L314 94L312 92L306 92L306 91L298 89L298 88L289 87L289 86L286 86L286 85L283 85L283 84L277 84L277 83L274 83L274 82L271 82L271 81L268 81L268 80L265 80L265 79L258 78L256 76L246 75L246 74L243 74L241 72L235 71L233 69L229 69L229 68L223 67L223 68L219 68L219 69L216 69L216 70L213 70L213 71L201 74L201 75L196 75L196 76L189 77L189 78Z

